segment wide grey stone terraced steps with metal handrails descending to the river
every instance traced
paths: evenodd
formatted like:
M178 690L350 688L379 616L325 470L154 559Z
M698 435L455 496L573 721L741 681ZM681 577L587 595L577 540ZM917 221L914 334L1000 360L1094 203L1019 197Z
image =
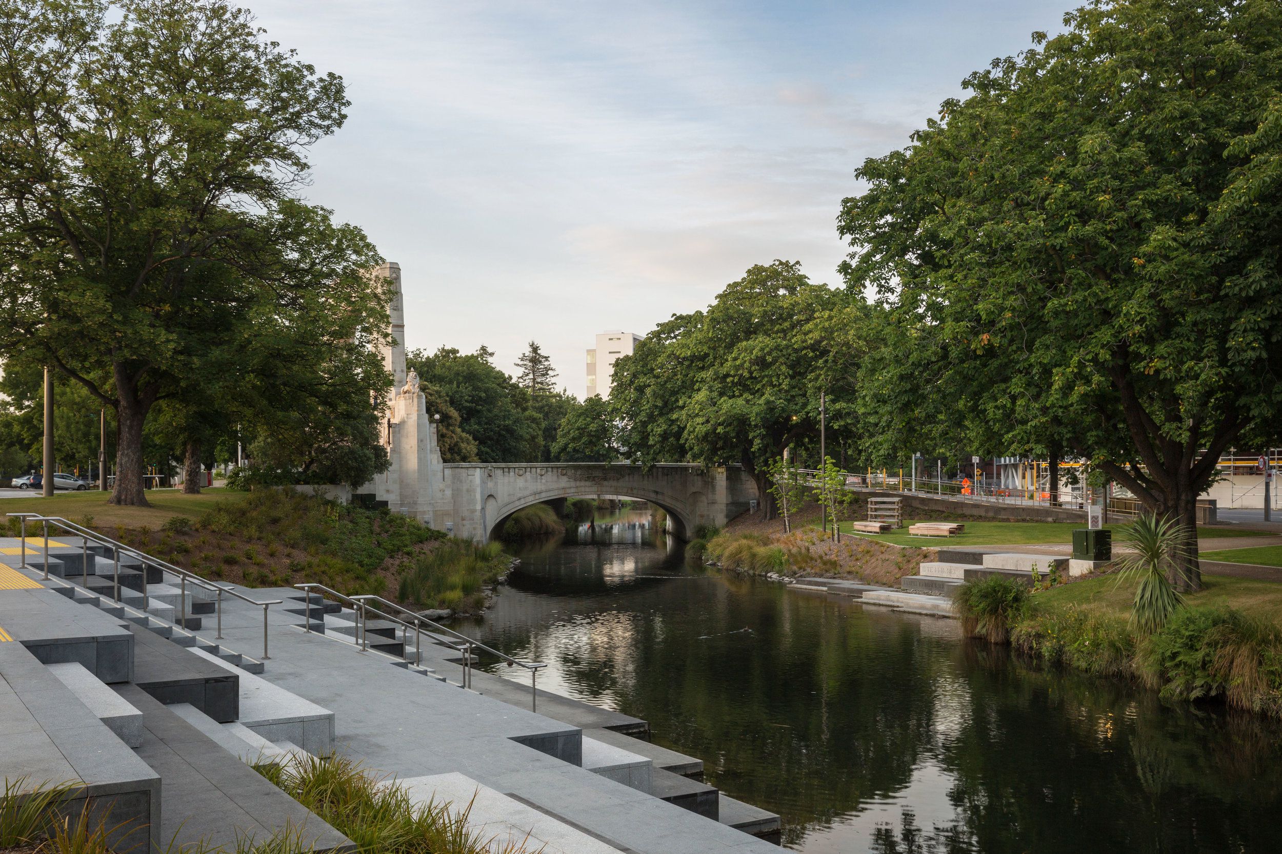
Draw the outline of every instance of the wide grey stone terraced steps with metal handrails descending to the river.
M268 639L271 658L245 654ZM756 835L777 835L778 816L635 737L644 721L542 690L527 711L529 685L462 656L314 593L219 593L90 538L0 538L0 777L82 781L76 798L121 850L232 851L286 830L350 850L249 764L335 750L415 802L470 803L469 830L494 846L768 850Z

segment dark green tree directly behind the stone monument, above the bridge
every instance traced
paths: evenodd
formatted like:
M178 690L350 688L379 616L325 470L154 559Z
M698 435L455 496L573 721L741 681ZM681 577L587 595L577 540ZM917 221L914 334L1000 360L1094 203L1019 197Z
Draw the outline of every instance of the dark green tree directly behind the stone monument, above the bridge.
M435 385L459 414L459 426L476 440L479 462L531 462L538 458L541 421L523 389L490 361L481 347L462 353L441 347L435 353L405 355L422 382Z

